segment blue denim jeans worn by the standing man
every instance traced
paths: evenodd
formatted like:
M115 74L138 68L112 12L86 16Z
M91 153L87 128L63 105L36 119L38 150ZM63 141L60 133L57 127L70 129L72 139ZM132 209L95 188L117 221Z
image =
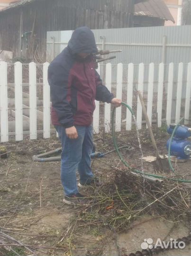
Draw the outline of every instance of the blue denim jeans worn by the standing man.
M61 182L65 195L72 195L78 192L76 184L76 171L80 174L80 181L88 183L93 174L91 172L91 152L93 148L92 127L76 126L77 139L70 139L66 136L63 126L55 126L62 143L61 155Z

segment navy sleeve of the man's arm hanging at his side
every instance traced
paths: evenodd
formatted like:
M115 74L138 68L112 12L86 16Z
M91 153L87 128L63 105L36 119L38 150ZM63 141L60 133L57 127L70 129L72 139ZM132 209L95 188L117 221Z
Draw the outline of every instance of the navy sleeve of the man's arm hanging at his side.
M73 126L73 111L70 104L71 78L69 71L61 64L53 62L48 67L48 82L52 107L55 109L58 121L65 128Z

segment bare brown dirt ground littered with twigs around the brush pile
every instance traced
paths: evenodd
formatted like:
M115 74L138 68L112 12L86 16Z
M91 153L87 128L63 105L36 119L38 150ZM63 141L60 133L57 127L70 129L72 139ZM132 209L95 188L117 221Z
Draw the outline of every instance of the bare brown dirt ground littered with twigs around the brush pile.
M160 154L166 154L165 143L168 135L164 128L155 130L156 143ZM96 150L107 152L113 149L110 134L101 132L94 136ZM121 152L130 166L141 169L140 151L136 132L118 134L118 146L129 144L134 149ZM153 155L153 148L146 130L141 131L144 156ZM31 141L25 137L22 142L4 143L9 152L7 159L0 159L0 231L12 238L36 249L38 256L119 256L141 251L141 243L146 238L156 241L182 238L190 234L190 226L185 221L173 222L164 216L147 215L129 223L123 232L109 229L99 222L86 225L76 223L78 207L63 203L63 188L60 182L60 162L38 163L33 155L48 152L60 147L56 137ZM176 174L184 179L191 179L191 161L173 163ZM104 158L92 160L92 169L101 181L109 180L109 175L116 167L123 166L116 152ZM153 165L144 162L144 170L157 173ZM166 175L170 175L166 174ZM186 185L186 184L185 184ZM88 190L91 196L95 191ZM73 229L73 232L71 232ZM35 246L35 247L32 247ZM38 248L39 246L39 248ZM43 247L45 247L43 249ZM70 248L68 250L67 248ZM13 247L18 255L33 255L23 247ZM57 248L57 249L54 249ZM64 249L65 248L65 249ZM38 250L37 250L38 249ZM191 246L160 253L161 256L190 256ZM35 255L34 254L34 255ZM15 256L16 253L6 247L0 247L0 255Z

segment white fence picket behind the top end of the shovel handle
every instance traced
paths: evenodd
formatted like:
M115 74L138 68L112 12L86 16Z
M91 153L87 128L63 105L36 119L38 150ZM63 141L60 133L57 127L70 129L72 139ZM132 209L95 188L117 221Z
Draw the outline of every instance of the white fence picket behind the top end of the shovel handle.
M144 83L144 64L140 63L138 68L138 91L143 95L143 83ZM136 110L136 122L137 128L142 128L142 106L139 97L137 97L137 110Z

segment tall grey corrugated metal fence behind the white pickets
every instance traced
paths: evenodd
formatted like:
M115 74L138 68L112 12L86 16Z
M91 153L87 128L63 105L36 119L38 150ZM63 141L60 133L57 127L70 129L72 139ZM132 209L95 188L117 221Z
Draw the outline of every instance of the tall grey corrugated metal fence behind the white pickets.
M123 63L123 80L127 81L127 64L135 64L134 80L138 78L138 64L144 63L144 80L148 81L148 64L155 63L155 81L158 81L158 64L163 62L165 56L164 68L164 82L167 86L168 80L168 64L173 62L174 65L174 91L176 91L178 63L182 62L184 65L183 80L186 80L187 64L191 62L191 26L174 26L174 27L135 27L135 28L112 28L112 29L94 29L92 30L98 47L102 49L103 39L105 38L105 49L122 50L122 53L116 53L116 59L111 60L112 64L112 81L115 82L117 78L117 64ZM60 51L66 46L68 41L68 33L71 31L59 31L61 34L61 41L57 41L57 47ZM47 33L47 52L51 53L50 34L54 35L56 32ZM163 40L166 36L165 55L163 54L164 46ZM56 34L55 34L56 37ZM59 40L59 38L58 38ZM64 41L63 41L64 40ZM65 43L65 44L61 44ZM128 45L127 45L128 44ZM175 46L174 46L175 45ZM55 47L56 48L56 47ZM57 49L57 48L56 48ZM58 52L55 52L57 55ZM105 63L101 66L105 66ZM103 68L101 69L101 71ZM102 74L104 80L104 74ZM157 85L157 84L156 84ZM146 90L147 83L144 89ZM185 86L183 86L182 95L185 97ZM154 91L157 91L154 86Z

